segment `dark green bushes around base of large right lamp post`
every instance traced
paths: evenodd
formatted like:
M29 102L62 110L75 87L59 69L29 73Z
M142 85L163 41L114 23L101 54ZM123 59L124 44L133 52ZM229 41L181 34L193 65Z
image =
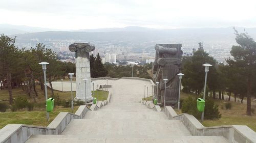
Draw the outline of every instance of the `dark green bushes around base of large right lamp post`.
M188 97L182 102L181 111L195 116L197 119L201 118L201 112L197 110L197 101L192 97ZM204 119L219 119L221 114L219 112L219 106L214 103L211 98L206 98Z

